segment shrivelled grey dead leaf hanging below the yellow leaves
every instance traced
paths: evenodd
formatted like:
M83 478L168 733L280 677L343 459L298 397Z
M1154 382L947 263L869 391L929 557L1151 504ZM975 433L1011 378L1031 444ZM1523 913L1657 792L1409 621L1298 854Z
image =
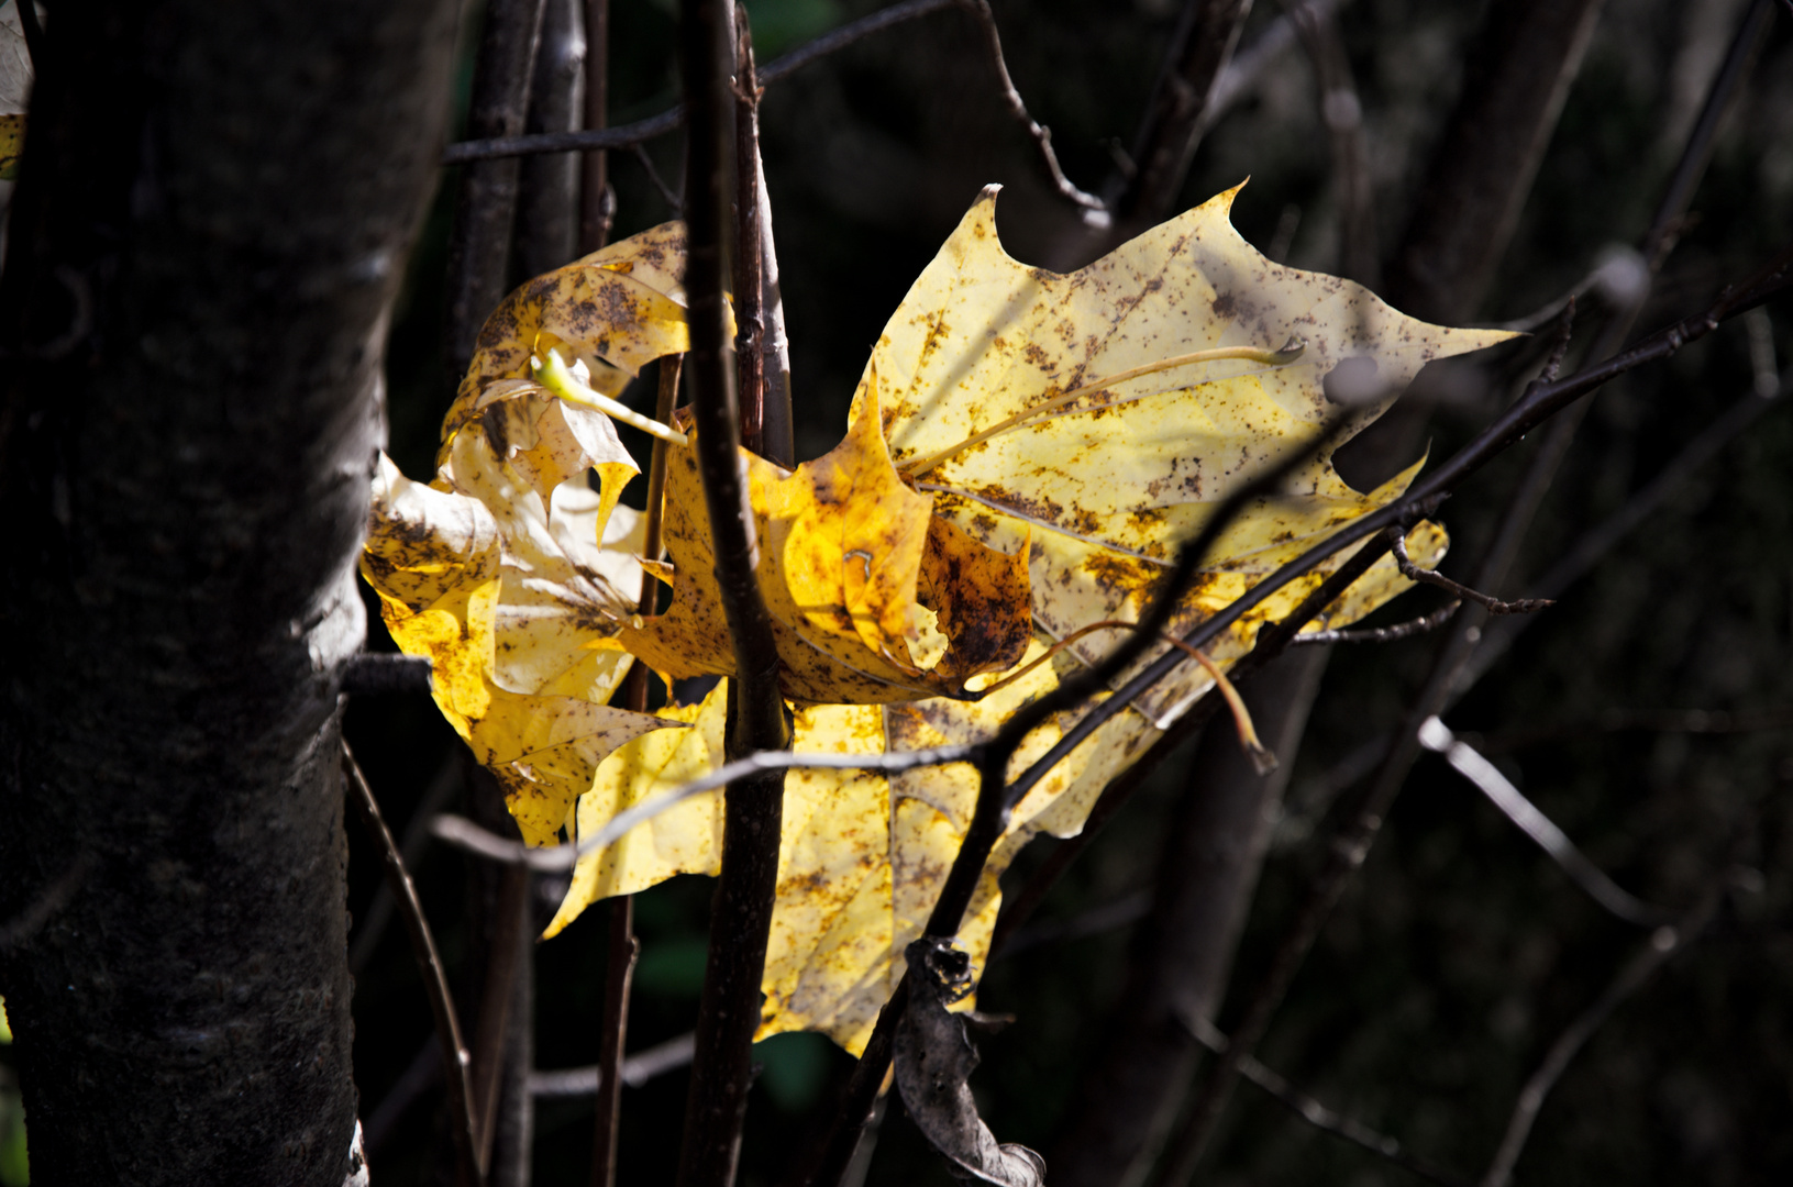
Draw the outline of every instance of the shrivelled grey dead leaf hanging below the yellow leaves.
M963 1015L947 1006L972 992L972 957L950 940L923 936L911 943L909 1008L896 1024L896 1090L914 1124L965 1176L1002 1187L1045 1187L1045 1158L997 1142L977 1115L965 1083L977 1067L977 1049Z

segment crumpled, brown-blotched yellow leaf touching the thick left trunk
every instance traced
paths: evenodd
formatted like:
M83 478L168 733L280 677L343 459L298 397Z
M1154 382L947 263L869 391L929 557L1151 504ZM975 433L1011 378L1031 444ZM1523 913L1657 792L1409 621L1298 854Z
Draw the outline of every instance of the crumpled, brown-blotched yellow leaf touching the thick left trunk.
M615 748L680 724L606 705L631 662L615 637L635 613L642 540L617 500L638 470L610 418L534 382L531 360L565 350L615 394L687 346L681 262L669 224L513 292L443 421L436 481L385 457L375 479L362 574L400 649L432 660L437 706L531 845L559 836Z

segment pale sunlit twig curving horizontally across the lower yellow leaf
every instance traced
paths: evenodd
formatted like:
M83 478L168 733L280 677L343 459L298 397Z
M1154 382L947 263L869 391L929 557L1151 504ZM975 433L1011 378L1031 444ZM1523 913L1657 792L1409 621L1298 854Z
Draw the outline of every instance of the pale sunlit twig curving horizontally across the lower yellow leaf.
M529 848L520 841L506 841L504 837L493 836L461 816L437 816L430 828L443 841L464 848L470 853L479 853L488 861L529 866L538 873L567 873L579 864L581 857L615 845L615 841L631 828L645 825L654 816L678 807L692 796L712 793L717 787L726 787L741 778L773 771L789 771L793 767L898 773L914 771L918 767L943 766L947 762L975 762L977 753L977 746L934 746L931 749L900 749L884 755L798 755L784 749L760 751L757 755L748 755L746 758L726 762L714 771L690 780L689 784L681 784L672 791L644 800L626 812L617 812L597 834L590 839L581 839L577 845Z

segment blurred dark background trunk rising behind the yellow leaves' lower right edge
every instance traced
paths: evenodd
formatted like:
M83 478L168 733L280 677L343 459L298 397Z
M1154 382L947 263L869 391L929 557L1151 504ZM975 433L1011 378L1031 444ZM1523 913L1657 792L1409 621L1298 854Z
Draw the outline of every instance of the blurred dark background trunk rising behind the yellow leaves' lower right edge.
M1133 943L1124 1006L1047 1158L1052 1187L1140 1182L1176 1121L1201 1053L1180 1018L1212 1020L1226 990L1325 654L1302 647L1241 689L1280 758L1271 775L1253 769L1225 715L1203 732L1167 830L1151 914Z

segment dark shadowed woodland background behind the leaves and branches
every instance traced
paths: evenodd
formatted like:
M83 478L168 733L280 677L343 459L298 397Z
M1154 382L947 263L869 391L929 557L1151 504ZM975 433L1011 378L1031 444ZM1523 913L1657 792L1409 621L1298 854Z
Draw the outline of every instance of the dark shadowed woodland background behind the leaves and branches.
M556 4L549 0L550 9ZM871 7L748 4L760 63ZM1124 185L1182 5L997 0L992 7L1015 86L1033 117L1052 129L1067 176L1092 192ZM1354 274L1397 307L1440 321L1524 319L1581 287L1574 360L1614 305L1637 292L1635 247L1748 0L1558 5L1587 13L1590 32L1578 68L1558 72L1567 82L1560 117L1535 181L1520 192L1511 238L1490 260L1485 283L1447 276L1431 289L1404 246L1436 242L1425 238L1438 235L1425 230L1429 217L1447 226L1485 217L1440 208L1443 199L1427 190L1440 161L1479 151L1447 134L1452 113L1486 82L1476 74L1476 56L1486 61L1503 29L1551 5L1356 0L1327 7L1336 13L1334 32L1295 38L1264 59L1200 140L1171 210L1250 178L1234 221L1259 249L1296 267ZM1273 2L1255 5L1239 61L1280 16ZM615 5L611 122L651 115L676 99L672 27L669 4ZM477 39L473 13L461 54L463 95ZM1338 99L1347 91L1359 126ZM983 185L1006 186L999 219L1017 258L1070 269L1104 249L1079 212L1052 192L959 11L879 32L782 79L766 90L760 122L800 459L825 452L845 432L868 348ZM647 152L660 178L678 188L680 138L651 142ZM610 154L610 176L619 237L676 215L629 152ZM411 475L430 470L454 389L443 350L454 195L450 169L393 323L389 450ZM1485 226L1476 240L1495 242L1499 231ZM1639 332L1700 308L1793 235L1793 14L1784 9L1761 38L1754 72L1730 104L1691 213L1675 233L1678 244L1637 319ZM1463 256L1433 264L1449 273ZM1585 285L1601 265L1599 282ZM513 280L524 274L513 260ZM1574 1058L1519 1160L1522 1183L1779 1183L1793 1169L1793 1017L1786 1008L1793 997L1793 418L1779 407L1784 396L1770 403L1763 394L1775 391L1775 377L1793 359L1789 319L1793 307L1770 303L1766 316L1730 323L1592 398L1513 577L1492 592L1531 592L1734 405L1757 402L1761 414L1673 484L1443 714L1632 893L1669 909L1719 897L1702 938L1624 1001ZM1551 326L1538 325L1547 337ZM1352 446L1341 470L1366 486L1427 443L1433 457L1449 455L1517 394L1540 357L1538 344L1517 344L1476 368L1424 375L1409 396L1415 411ZM629 398L651 412L651 386L638 384ZM638 441L631 448L645 457ZM1460 579L1476 572L1535 448L1519 446L1443 507L1454 536L1445 572ZM638 490L633 502L640 502ZM1377 622L1442 602L1434 590L1418 590ZM371 617L369 645L389 649ZM1210 1002L1223 1031L1321 864L1338 805L1368 773L1375 741L1400 721L1438 640L1341 645L1323 674L1309 663L1320 690L1305 732L1296 723L1284 733L1298 744L1278 746L1284 771L1277 778L1286 778L1286 789L1280 803L1278 796L1268 803L1268 852L1232 961L1234 993ZM423 697L362 697L350 708L346 733L394 828L479 794L463 773L459 742ZM1201 753L1225 755L1230 737L1219 742ZM1212 794L1217 778L1214 762L1196 760L1194 744L1173 757L984 977L981 1008L1017 1020L983 1040L984 1063L974 1078L979 1105L1002 1140L1045 1153L1049 1182L1085 1182L1056 1173L1078 1164L1079 1122L1104 1105L1090 1101L1090 1085L1103 1083L1092 1069L1122 1042L1117 1027L1137 1020L1139 986L1155 975L1162 981L1167 963L1189 959L1174 952L1165 902L1174 900L1178 879L1194 877L1219 845L1185 836L1192 805ZM1036 843L1008 886L1024 884L1052 845ZM430 843L418 853L423 904L445 956L473 984L481 929L470 922L479 904L466 889L468 859ZM353 834L350 877L350 907L366 929L380 875L373 852ZM540 884L538 891L545 913L559 888ZM631 1051L690 1029L708 900L710 884L699 879L676 879L638 897L642 961ZM602 916L590 911L534 949L533 1061L541 1070L597 1058ZM351 932L351 945L362 934ZM1429 755L1408 778L1364 870L1277 1015L1262 1060L1327 1106L1474 1182L1546 1049L1646 940L1648 931L1592 904L1470 784ZM434 1182L446 1173L434 1115L441 1090L427 1076L434 1047L411 954L400 929L387 927L378 943L362 940L355 956L355 1074L373 1173L380 1183ZM1217 963L1225 972L1225 954ZM810 1035L780 1036L757 1054L764 1072L741 1182L793 1182L850 1060ZM671 1178L683 1099L681 1070L626 1090L620 1182ZM1106 1101L1117 1110L1155 1106ZM588 1097L534 1101L536 1183L586 1182L590 1112ZM9 1165L0 1165L0 1182L20 1182ZM862 1182L952 1180L893 1105ZM1422 1180L1243 1085L1198 1182Z

